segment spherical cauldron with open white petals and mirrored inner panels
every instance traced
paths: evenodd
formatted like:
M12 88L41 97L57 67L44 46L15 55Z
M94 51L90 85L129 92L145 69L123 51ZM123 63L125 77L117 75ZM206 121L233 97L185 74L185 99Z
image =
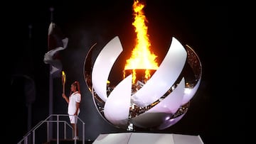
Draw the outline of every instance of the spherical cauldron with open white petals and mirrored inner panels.
M158 70L149 79L132 82L131 70L111 86L110 75L122 44L116 36L93 60L95 45L85 57L85 82L92 93L100 116L117 128L162 130L177 123L186 114L201 82L201 61L188 45L176 38ZM138 73L143 70L137 70ZM129 73L130 72L130 73Z

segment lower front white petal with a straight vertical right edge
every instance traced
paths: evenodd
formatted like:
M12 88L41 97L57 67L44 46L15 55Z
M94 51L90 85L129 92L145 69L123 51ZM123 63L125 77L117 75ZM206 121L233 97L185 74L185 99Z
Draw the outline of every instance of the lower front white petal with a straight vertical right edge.
M126 126L131 100L132 74L120 82L110 93L104 114L108 121L115 126Z

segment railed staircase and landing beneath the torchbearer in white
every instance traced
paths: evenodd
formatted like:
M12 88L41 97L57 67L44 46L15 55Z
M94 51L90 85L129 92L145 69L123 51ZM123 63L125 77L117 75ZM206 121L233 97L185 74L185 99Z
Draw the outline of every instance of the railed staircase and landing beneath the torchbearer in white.
M73 128L70 126L68 114L52 114L44 121L40 121L28 131L17 144L60 144L75 143L85 144L85 123L78 117L78 128L82 128L79 140L73 140ZM55 136L53 136L55 135ZM87 140L86 144L92 141Z

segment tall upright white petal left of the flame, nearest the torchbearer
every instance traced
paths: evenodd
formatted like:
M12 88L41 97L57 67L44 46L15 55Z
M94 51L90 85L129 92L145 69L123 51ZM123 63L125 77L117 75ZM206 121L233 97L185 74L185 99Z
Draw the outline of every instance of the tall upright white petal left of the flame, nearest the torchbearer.
M101 50L92 68L92 87L103 101L107 101L107 78L121 52L122 44L116 36Z

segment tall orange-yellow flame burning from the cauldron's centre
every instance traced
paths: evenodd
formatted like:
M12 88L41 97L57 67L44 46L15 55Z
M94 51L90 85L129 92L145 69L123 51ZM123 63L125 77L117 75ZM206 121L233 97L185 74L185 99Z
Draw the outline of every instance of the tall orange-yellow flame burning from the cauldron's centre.
M136 80L136 70L145 70L145 78L149 79L150 70L157 70L159 68L156 62L156 55L151 53L149 48L151 43L149 42L149 35L147 33L146 26L146 16L144 16L144 4L139 3L139 1L134 0L132 6L134 11L134 22L132 25L135 28L135 33L137 33L136 45L132 50L132 55L127 60L124 70L132 70L132 82Z

